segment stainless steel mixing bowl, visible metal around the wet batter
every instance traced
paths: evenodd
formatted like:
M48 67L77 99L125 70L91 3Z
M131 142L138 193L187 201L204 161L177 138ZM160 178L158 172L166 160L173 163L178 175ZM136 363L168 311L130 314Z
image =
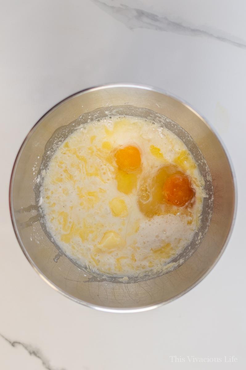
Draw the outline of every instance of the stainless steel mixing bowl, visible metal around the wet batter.
M78 117L121 113L159 120L175 132L198 161L208 198L202 227L179 256L175 269L134 282L100 279L61 255L38 215L35 184L57 138L74 127ZM205 159L205 161L203 160ZM40 168L41 165L41 168ZM235 178L225 149L199 114L151 87L113 84L80 91L48 111L31 129L17 154L10 181L10 213L17 240L33 268L54 289L76 302L112 312L141 311L170 302L188 292L213 268L225 249L235 219Z

